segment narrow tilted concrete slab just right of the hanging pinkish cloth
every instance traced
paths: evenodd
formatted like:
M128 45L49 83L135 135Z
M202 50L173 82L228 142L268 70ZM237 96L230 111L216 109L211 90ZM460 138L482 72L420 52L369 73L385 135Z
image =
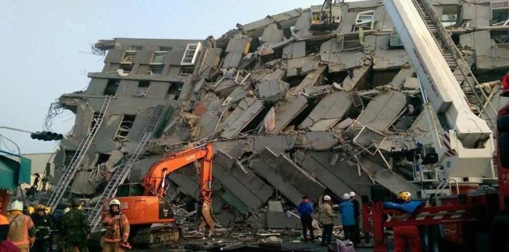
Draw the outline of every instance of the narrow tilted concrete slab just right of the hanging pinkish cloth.
M307 107L307 99L302 96L287 96L279 101L275 111L275 126L269 134L278 135L288 124Z

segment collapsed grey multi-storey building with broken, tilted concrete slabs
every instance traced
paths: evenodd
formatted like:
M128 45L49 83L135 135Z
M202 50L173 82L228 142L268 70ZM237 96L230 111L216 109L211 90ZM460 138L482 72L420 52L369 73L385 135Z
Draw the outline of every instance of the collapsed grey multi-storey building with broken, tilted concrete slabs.
M507 3L431 1L497 110L508 103L497 80L509 69L509 5L499 2ZM100 41L102 72L89 73L86 91L59 99L76 119L54 177L75 169L70 193L97 203L116 171L140 182L166 153L212 142L212 209L223 227L300 228L286 210L303 195L339 200L369 195L375 183L417 195L415 149L433 142L392 21L380 1L337 3L337 28L317 32L320 8L237 24L218 39ZM469 76L442 49L462 85ZM196 168L169 174L166 193L181 216L196 210Z

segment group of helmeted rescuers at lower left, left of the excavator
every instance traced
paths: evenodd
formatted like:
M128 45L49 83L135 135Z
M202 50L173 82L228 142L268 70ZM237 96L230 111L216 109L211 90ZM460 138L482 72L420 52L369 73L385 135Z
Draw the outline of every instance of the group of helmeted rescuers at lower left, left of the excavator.
M106 228L103 251L123 252L124 247L130 247L129 222L120 211L120 201L111 200L109 209L102 222ZM71 208L59 217L42 204L24 209L18 200L10 203L7 211L7 216L0 214L0 252L50 252L53 244L58 251L88 252L91 228L79 199L73 199Z

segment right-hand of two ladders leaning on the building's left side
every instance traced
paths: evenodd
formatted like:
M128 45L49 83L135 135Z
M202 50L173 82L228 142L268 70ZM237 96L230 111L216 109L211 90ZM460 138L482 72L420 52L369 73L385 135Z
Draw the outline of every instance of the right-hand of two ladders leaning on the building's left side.
M159 119L161 118L165 107L166 105L156 106L152 116L145 124L142 136L139 138L138 146L136 146L136 149L132 154L126 155L124 157L124 161L122 161L122 163L117 166L115 173L111 177L111 180L108 182L108 185L106 185L106 188L102 192L101 197L97 201L97 204L92 208L92 210L90 210L89 222L92 227L92 231L97 231L96 229L100 227L99 224L101 220L101 209L103 207L104 200L114 197L117 193L117 188L119 185L124 183L124 181L129 176L131 168L138 159L138 156L143 153L145 144L150 138L152 138L152 134L154 133L154 130L157 126L157 123L159 122Z

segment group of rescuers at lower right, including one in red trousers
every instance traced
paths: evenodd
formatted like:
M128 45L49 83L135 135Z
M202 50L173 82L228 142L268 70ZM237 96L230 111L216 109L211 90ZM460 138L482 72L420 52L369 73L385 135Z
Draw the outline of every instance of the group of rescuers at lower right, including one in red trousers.
M302 224L302 236L304 242L315 242L314 226L319 223L322 228L322 237L319 238L320 245L326 246L330 244L332 238L332 229L334 227L334 218L341 215L341 223L343 225L344 241L341 241L341 246L345 247L363 247L360 241L360 204L356 200L354 192L345 193L343 195L343 202L339 205L333 205L330 196L323 197L322 204L318 207L318 220L313 219L313 204L309 201L307 196L302 197L302 201L297 205L300 221ZM409 192L401 192L397 196L397 201L394 205L403 206L411 203L411 194ZM412 202L413 203L413 202ZM417 202L419 203L419 202ZM410 204L409 204L410 205ZM316 222L315 225L313 222ZM308 239L308 230L309 238ZM407 246L411 252L422 251L421 237L416 226L402 226L394 227L394 252L404 252Z

